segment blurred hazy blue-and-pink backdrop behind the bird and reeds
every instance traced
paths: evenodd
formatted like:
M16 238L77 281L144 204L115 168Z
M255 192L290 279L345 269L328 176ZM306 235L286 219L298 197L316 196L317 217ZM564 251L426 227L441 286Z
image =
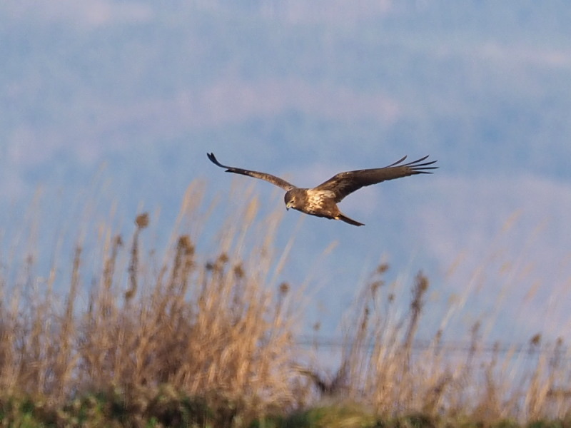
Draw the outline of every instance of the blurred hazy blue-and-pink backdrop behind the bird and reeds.
M557 0L4 0L4 276L32 229L48 264L56 249L71 263L59 237L96 235L100 219L129 236L149 210L155 235L171 233L193 180L283 207L207 152L303 187L430 154L434 175L343 200L365 227L284 213L281 280L310 277L303 328L337 335L385 260L403 312L416 272L430 278L426 337L465 300L445 337L482 320L490 340L571 340L570 22Z

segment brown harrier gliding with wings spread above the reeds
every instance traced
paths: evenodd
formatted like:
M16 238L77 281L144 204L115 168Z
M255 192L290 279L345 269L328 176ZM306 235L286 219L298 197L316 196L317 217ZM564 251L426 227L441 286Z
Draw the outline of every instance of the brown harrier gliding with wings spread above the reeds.
M295 185L290 184L275 175L222 165L218 162L214 153L206 154L212 163L221 168L226 168L227 173L236 173L249 175L254 178L261 178L261 180L269 181L270 183L283 188L283 190L286 190L284 201L285 208L288 210L293 208L294 210L301 211L302 213L334 220L342 220L345 223L355 226L363 226L363 223L359 223L352 218L348 218L346 215L341 213L337 206L345 196L365 185L377 184L381 181L393 180L394 178L408 177L408 175L430 174L432 173L430 170L438 168L438 166L429 166L436 161L422 163L426 158L428 158L428 156L420 158L414 162L402 163L406 159L405 156L395 163L385 166L385 168L373 168L338 173L313 189L303 189L296 188Z

